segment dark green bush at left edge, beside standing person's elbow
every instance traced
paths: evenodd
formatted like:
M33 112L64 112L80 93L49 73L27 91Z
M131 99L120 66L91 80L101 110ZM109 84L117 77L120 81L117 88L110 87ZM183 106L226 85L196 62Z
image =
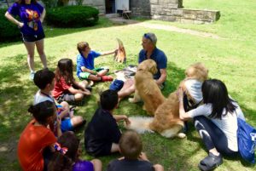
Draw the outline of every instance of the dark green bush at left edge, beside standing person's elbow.
M0 41L8 41L20 37L20 29L4 16L7 9L0 9Z

